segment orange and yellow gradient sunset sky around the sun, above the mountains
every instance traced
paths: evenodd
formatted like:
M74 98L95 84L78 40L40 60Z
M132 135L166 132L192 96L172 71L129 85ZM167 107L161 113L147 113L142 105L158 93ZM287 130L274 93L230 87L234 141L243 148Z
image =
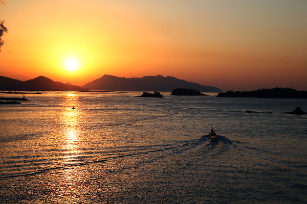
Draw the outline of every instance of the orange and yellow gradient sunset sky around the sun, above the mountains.
M0 1L0 75L307 90L307 1ZM65 67L75 60L76 70Z

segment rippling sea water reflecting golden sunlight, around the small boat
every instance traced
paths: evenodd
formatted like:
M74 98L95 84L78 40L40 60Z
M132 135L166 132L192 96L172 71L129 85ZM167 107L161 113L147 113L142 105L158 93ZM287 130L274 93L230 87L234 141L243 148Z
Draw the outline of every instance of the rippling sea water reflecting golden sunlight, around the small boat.
M0 203L307 202L306 99L42 93L0 106Z

